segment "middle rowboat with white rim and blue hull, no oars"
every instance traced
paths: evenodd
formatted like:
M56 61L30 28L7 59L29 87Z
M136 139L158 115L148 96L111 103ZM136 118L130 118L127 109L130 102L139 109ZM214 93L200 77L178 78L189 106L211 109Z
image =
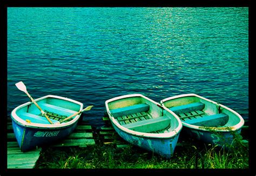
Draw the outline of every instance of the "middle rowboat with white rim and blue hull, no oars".
M105 101L114 130L124 140L170 158L182 125L176 114L142 94Z

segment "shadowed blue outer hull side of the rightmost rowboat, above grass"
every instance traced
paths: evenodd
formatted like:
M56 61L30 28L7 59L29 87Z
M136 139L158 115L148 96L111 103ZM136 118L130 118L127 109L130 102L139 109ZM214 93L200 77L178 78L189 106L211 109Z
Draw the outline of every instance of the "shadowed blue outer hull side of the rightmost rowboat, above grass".
M192 138L196 138L197 140L201 140L206 144L218 145L218 146L229 146L232 144L234 140L233 133L240 134L241 129L237 131L201 131L188 127L183 127L184 132L187 133Z

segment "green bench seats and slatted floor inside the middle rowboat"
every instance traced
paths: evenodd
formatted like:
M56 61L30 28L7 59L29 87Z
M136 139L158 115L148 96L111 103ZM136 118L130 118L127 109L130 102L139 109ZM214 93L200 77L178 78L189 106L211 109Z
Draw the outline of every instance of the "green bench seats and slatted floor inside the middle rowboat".
M118 123L129 130L145 133L164 133L170 128L171 119L167 116L153 118L146 103L121 107L110 111Z

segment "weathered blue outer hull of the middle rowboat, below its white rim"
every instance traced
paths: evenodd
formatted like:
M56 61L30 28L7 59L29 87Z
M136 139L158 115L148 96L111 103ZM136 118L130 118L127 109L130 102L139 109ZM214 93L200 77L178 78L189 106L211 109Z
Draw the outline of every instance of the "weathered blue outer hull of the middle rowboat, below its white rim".
M116 132L119 134L119 136L122 137L127 142L142 147L148 151L158 153L166 158L171 158L171 156L173 155L174 149L177 145L177 141L179 138L179 133L173 138L166 139L139 137L120 130L113 123L112 126L114 127L114 130L116 130Z

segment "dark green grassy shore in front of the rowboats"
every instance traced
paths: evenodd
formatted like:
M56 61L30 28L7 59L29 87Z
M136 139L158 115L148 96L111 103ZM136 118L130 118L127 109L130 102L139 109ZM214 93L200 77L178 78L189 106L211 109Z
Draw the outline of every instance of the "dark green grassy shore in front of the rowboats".
M229 148L185 140L190 144L177 146L170 159L132 145L45 148L35 168L249 168L248 145L240 135Z

